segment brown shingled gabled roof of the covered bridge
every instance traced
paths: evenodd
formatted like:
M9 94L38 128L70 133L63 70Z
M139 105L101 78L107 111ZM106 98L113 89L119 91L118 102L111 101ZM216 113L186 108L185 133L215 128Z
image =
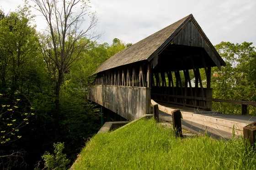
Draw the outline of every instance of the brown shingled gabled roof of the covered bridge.
M139 62L143 60L150 61L154 58L155 55L157 55L159 51L161 51L166 45L171 42L174 36L181 30L182 26L184 26L190 20L194 20L194 22L196 22L193 15L190 14L182 18L181 20L176 21L170 26L167 26L164 29L155 32L151 36L148 36L143 40L133 44L132 46L129 46L123 51L118 52L117 54L113 55L105 62L103 62L96 69L96 72L94 72L94 74L134 62ZM200 26L198 27L200 28ZM205 36L204 33L203 36ZM210 43L206 36L205 38ZM213 48L214 53L218 56L221 65L225 65L224 61L221 59L218 52L215 50L211 43L210 46L211 48Z

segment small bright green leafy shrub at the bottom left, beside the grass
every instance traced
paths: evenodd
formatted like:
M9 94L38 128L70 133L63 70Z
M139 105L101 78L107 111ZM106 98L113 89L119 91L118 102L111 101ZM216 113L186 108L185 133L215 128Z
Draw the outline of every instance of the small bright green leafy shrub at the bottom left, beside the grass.
M63 153L64 143L53 144L54 153L46 152L42 159L47 170L67 170L70 160Z

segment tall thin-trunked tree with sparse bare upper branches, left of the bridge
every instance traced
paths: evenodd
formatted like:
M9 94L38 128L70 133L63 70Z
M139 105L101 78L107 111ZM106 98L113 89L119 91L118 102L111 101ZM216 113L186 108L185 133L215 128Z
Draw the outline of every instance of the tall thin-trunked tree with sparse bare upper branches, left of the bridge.
M44 16L48 32L41 38L41 51L47 64L48 72L55 83L56 126L59 126L59 94L64 82L64 74L81 57L81 52L89 48L90 41L95 39L93 28L96 16L89 12L89 1L84 0L33 0L36 9ZM80 8L79 8L80 7ZM81 24L90 22L86 29ZM83 43L78 43L84 39Z

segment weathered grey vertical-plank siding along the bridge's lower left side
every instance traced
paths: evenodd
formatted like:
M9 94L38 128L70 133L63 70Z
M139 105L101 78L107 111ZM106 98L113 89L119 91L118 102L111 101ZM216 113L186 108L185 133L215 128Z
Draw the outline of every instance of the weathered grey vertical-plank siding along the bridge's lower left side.
M88 99L134 120L149 113L150 88L94 85L88 88Z

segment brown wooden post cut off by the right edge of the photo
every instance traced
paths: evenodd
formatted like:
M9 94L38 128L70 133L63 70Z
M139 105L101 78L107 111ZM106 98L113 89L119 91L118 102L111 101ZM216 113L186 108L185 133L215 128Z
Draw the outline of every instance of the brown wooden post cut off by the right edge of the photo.
M252 146L256 144L256 122L253 122L245 126L243 128L243 131L244 139L248 140Z

